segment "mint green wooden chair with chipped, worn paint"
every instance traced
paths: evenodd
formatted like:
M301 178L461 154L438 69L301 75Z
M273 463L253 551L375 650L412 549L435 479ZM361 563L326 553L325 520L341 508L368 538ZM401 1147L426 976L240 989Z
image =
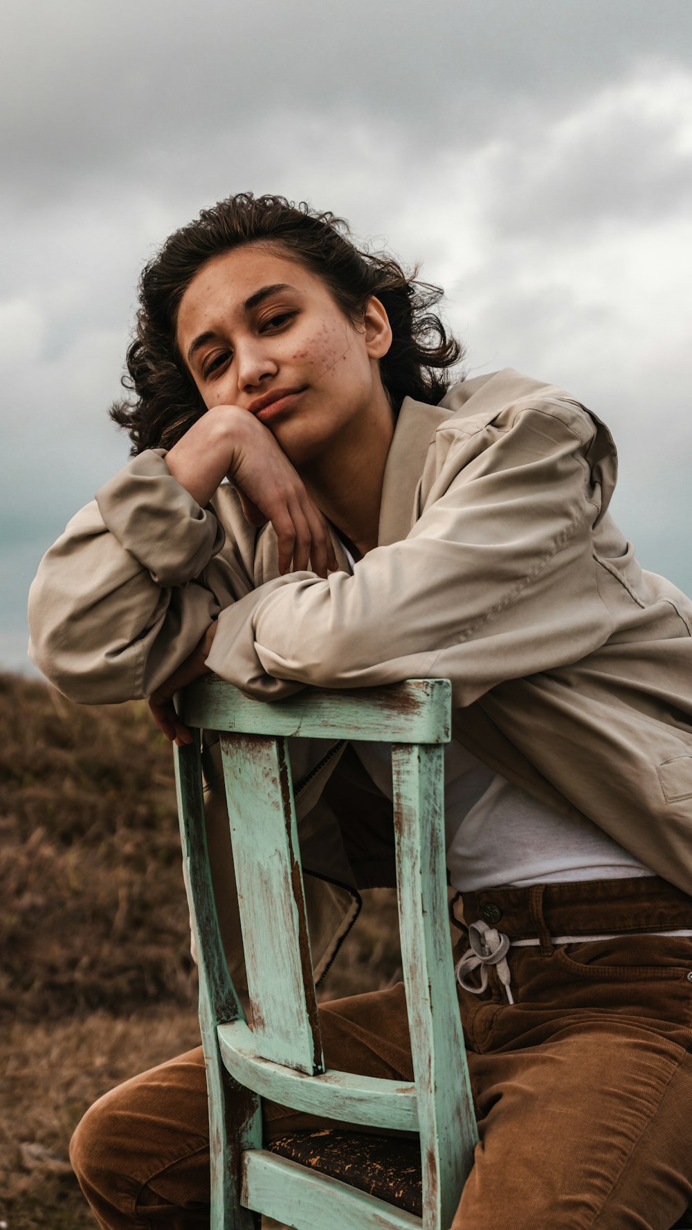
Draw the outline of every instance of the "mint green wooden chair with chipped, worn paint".
M447 1230L473 1161L476 1121L447 919L442 752L450 684L247 700L206 676L178 696L184 722L221 732L253 1028L224 957L203 823L200 753L176 749L186 887L199 961L211 1141L211 1228L263 1213L297 1230ZM286 738L392 743L397 892L414 1084L324 1068ZM262 1146L261 1098L419 1134L422 1216ZM342 1138L334 1132L337 1151ZM343 1149L349 1139L343 1137ZM390 1149L412 1148L393 1138ZM417 1143L413 1143L417 1150ZM342 1149L342 1151L343 1151ZM333 1150L332 1150L333 1151Z

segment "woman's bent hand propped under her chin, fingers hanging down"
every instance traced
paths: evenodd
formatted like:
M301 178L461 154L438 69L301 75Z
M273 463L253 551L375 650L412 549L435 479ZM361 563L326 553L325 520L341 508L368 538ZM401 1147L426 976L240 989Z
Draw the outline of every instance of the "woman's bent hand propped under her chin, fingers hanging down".
M307 568L320 577L338 568L326 518L272 432L247 410L214 406L167 453L166 465L200 506L226 475L251 525L272 522L279 572Z

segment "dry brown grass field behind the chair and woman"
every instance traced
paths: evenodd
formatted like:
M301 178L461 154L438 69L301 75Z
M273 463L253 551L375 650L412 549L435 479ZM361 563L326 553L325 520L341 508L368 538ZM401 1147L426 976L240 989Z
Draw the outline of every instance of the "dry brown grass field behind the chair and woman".
M198 1041L171 750L146 706L0 676L0 1223L82 1230L73 1128ZM368 898L326 998L398 966L392 895Z

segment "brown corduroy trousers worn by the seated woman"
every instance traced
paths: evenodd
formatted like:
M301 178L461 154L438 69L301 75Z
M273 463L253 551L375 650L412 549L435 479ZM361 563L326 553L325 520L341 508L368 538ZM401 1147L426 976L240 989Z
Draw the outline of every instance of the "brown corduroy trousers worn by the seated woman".
M492 967L460 988L481 1139L455 1230L669 1230L692 1204L692 938L654 932L692 930L692 898L590 881L467 893L463 916L540 943L509 951L514 1004ZM331 1068L413 1079L401 983L320 1016ZM264 1122L316 1121L265 1103ZM107 1230L208 1228L202 1048L96 1102L71 1157Z

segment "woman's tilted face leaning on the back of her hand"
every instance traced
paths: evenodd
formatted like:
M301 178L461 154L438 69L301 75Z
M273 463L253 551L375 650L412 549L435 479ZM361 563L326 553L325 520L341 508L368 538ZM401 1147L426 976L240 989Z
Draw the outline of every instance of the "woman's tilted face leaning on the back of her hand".
M257 415L294 465L374 415L391 418L377 362L391 330L379 300L355 326L321 278L259 244L199 269L181 300L177 342L206 407Z

